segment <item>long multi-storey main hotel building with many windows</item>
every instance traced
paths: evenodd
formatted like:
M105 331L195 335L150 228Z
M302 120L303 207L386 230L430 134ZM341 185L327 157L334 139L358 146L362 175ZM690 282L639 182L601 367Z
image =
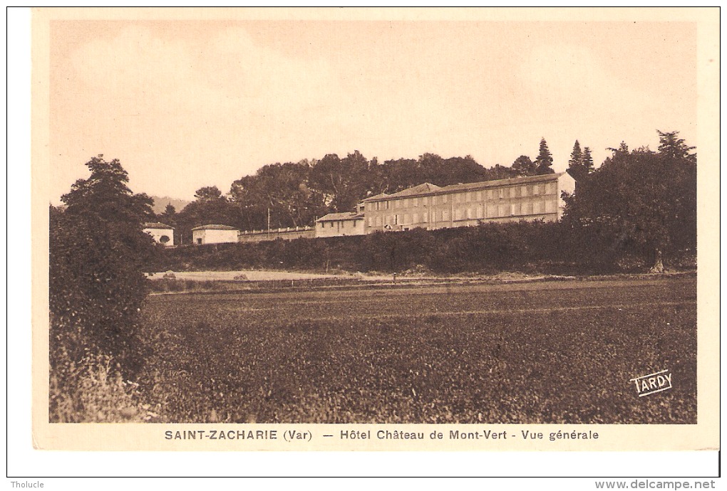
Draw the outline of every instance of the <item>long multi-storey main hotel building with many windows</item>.
M470 227L482 222L555 222L563 216L561 192L574 190L575 180L567 172L444 187L419 184L366 198L364 230L368 234L417 227Z

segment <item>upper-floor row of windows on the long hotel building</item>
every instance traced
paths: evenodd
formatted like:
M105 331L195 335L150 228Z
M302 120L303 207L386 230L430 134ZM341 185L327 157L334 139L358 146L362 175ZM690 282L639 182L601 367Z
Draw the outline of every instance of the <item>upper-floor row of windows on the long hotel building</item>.
M375 201L367 203L366 207L373 210L389 210L396 208L417 208L418 206L433 206L449 203L467 203L470 201L482 201L484 199L505 199L523 198L527 196L538 196L554 194L557 191L557 183L541 182L537 184L522 184L519 186L498 187L496 189L468 191L451 193L450 195L423 196L419 198L403 198L397 200Z

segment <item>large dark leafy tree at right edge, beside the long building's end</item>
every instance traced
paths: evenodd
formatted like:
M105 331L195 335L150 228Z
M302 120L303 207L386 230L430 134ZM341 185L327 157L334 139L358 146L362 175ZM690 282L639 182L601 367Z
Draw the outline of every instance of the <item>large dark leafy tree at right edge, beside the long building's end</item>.
M591 255L637 253L662 272L664 255L696 248L696 156L665 135L656 153L622 143L566 197L563 220Z

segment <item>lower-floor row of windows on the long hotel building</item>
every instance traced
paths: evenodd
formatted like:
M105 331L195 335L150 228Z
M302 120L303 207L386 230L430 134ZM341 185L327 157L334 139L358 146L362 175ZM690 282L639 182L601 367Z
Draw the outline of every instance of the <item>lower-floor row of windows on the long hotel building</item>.
M536 201L534 203L512 203L510 205L494 205L487 208L470 206L468 208L454 209L455 222L458 220L472 220L484 218L500 218L503 216L523 216L555 213L555 200ZM424 213L392 214L385 216L369 216L369 227L383 227L385 225L408 225L429 222L449 222L449 210L433 210Z

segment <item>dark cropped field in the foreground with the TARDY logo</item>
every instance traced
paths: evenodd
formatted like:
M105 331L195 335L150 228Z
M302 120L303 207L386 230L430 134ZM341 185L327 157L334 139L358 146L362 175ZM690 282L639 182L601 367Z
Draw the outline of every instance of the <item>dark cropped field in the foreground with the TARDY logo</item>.
M170 422L696 423L696 279L151 296ZM631 378L668 369L638 397Z

